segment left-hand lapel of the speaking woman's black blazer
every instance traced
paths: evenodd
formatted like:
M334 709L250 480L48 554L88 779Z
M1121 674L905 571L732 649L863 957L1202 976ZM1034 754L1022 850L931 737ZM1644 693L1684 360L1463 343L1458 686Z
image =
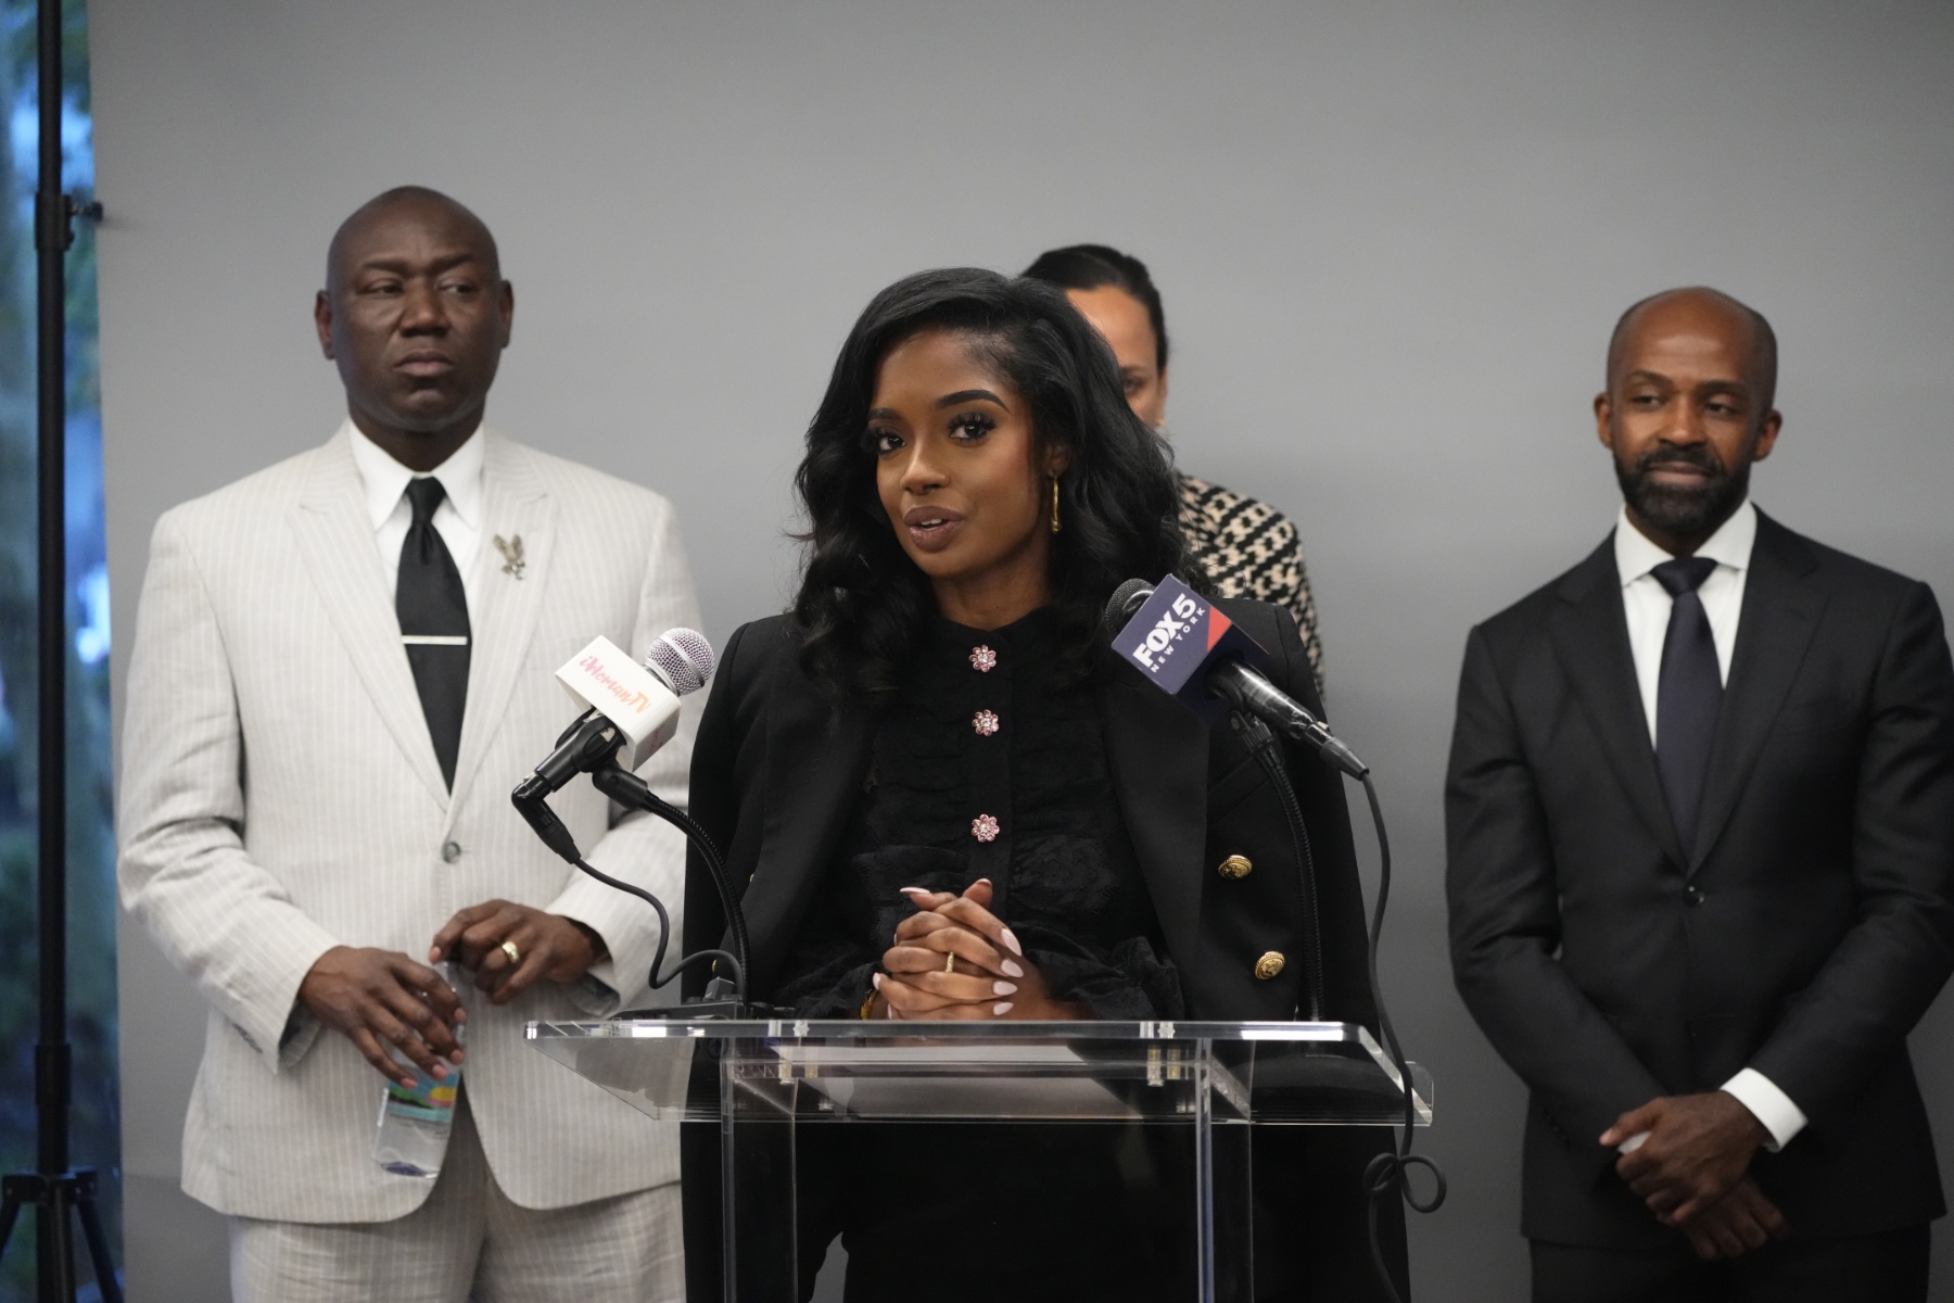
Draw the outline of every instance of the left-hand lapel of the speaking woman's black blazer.
M750 990L768 990L787 957L807 903L862 795L875 717L850 703L834 711L791 658L774 670L766 707L766 809L760 856L741 908L752 946ZM733 883L741 891L743 883ZM772 957L772 959L768 959Z

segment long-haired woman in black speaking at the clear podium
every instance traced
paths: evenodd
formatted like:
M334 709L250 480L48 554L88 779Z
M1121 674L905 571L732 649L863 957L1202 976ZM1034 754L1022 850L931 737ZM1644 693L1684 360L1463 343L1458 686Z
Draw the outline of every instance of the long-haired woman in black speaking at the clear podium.
M692 815L746 883L752 996L807 1018L1297 1016L1303 893L1276 789L1100 631L1124 580L1202 576L1167 451L1065 297L977 270L875 295L795 486L799 594L725 645L692 764ZM1321 709L1294 619L1223 609ZM1323 1016L1374 1022L1340 779L1299 752L1288 770ZM694 863L686 946L723 930ZM1338 1155L1350 1133L1280 1131L1254 1155L1258 1285L1368 1297L1358 1172L1387 1133ZM1172 1129L805 1127L803 1291L840 1233L848 1299L1188 1299L1184 1149ZM717 1201L692 1188L715 1182L690 1158L707 1299ZM1395 1199L1385 1223L1401 1262Z

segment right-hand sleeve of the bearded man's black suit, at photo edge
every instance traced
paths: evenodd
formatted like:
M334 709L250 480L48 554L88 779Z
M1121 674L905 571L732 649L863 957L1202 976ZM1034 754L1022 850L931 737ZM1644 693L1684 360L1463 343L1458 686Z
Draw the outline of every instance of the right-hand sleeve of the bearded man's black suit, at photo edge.
M1823 1125L1905 1043L1954 969L1954 668L1913 584L1886 633L1858 756L1858 920L1751 1059Z

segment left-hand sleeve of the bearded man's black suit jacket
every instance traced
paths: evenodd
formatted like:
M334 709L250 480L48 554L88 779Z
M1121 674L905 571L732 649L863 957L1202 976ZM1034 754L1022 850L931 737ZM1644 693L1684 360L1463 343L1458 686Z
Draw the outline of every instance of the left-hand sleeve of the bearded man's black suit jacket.
M1483 629L1466 643L1452 729L1446 904L1466 1008L1598 1174L1614 1155L1596 1137L1665 1092L1559 963L1553 844Z

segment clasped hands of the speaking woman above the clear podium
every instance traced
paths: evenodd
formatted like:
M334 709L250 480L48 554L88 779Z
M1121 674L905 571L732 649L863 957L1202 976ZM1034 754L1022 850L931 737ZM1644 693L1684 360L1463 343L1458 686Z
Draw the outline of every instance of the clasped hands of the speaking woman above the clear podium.
M1083 1018L1077 1004L1053 1000L1045 977L1004 922L991 912L991 879L963 895L905 889L916 914L895 930L881 955L873 1014L883 1018Z

